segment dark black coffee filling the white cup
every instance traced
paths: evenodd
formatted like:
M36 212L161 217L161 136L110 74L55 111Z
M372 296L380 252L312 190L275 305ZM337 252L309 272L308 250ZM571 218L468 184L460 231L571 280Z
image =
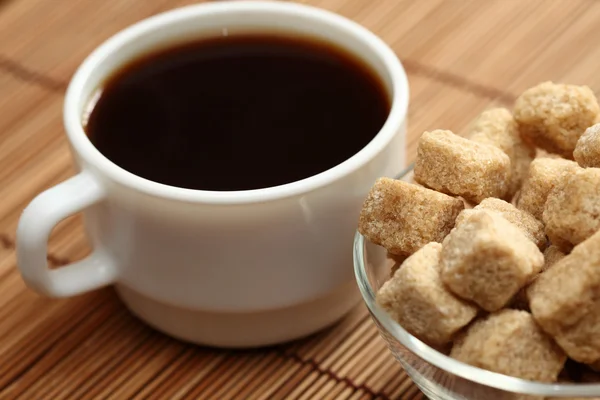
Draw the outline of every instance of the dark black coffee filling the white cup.
M126 65L86 123L111 161L190 189L245 190L323 172L373 139L389 96L346 51L270 34L217 37Z

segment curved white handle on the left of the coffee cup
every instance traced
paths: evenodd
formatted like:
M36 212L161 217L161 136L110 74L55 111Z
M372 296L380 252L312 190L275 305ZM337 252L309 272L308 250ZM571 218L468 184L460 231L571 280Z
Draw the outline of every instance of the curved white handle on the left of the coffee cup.
M17 264L27 286L49 297L67 297L115 281L114 263L98 250L81 261L53 270L46 261L48 238L54 226L105 198L99 182L89 172L81 172L40 193L25 208L17 228Z

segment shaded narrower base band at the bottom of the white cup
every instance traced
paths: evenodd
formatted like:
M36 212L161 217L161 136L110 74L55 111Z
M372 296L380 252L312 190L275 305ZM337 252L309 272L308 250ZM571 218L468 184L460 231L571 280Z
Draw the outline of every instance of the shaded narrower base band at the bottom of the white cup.
M333 325L360 300L352 282L291 307L232 313L165 304L122 285L116 290L129 310L153 328L179 340L221 348L263 347L308 336Z

